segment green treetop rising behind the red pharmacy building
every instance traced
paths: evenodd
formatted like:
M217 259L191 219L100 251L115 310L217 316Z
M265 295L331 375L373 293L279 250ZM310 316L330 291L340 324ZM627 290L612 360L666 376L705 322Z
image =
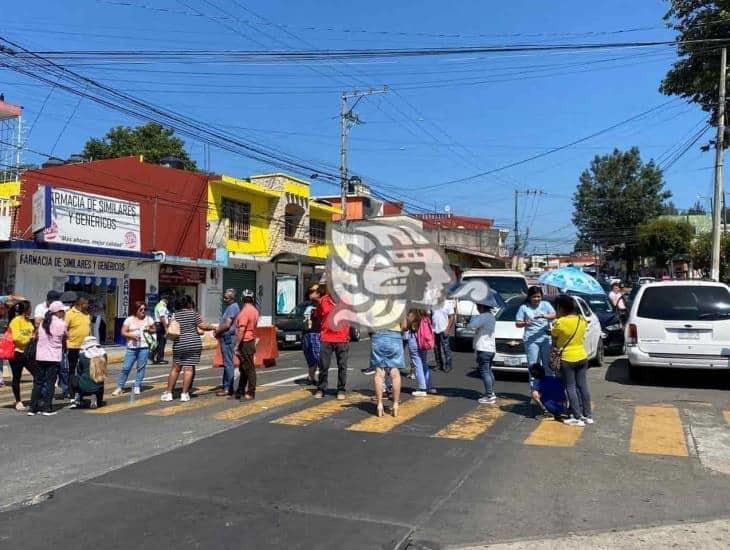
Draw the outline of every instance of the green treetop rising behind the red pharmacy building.
M103 139L91 138L84 146L84 156L92 160L130 155L144 155L146 161L155 163L165 157L176 157L183 161L185 169L197 170L195 161L185 150L185 142L175 137L173 130L154 122L136 128L117 126Z

